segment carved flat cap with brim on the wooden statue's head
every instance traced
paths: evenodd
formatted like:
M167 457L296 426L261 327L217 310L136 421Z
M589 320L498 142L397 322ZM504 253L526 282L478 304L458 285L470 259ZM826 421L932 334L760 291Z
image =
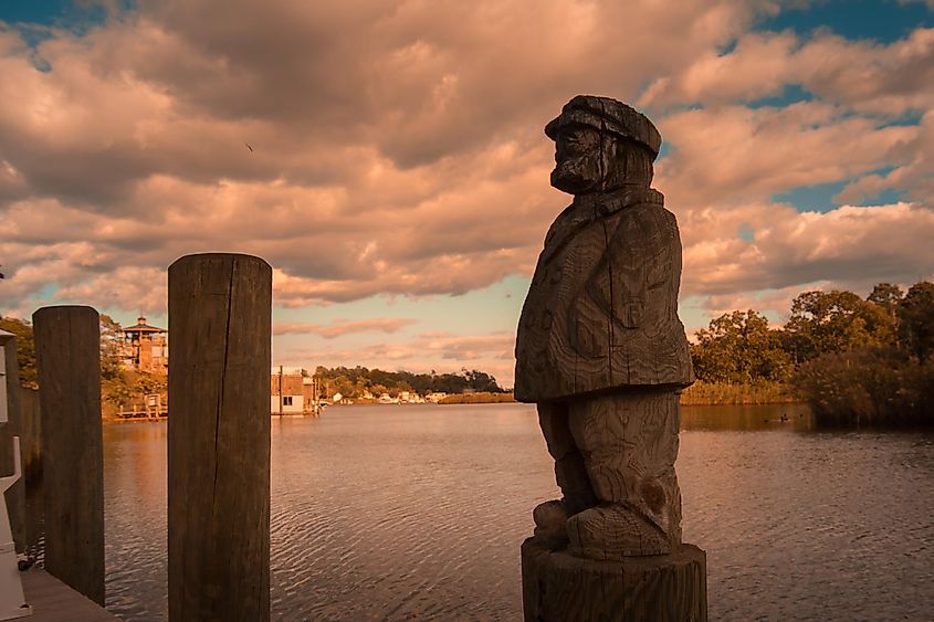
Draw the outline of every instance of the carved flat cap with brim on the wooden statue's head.
M567 125L587 125L644 145L659 155L662 137L649 117L610 97L578 95L562 108L562 114L545 126L545 134L557 139L558 130Z

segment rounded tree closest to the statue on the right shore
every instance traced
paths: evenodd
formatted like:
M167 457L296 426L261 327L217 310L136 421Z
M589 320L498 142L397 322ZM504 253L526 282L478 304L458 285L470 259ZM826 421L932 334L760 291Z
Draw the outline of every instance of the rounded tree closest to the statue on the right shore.
M753 309L712 319L696 338L691 358L697 378L707 382L780 381L791 367L778 331Z

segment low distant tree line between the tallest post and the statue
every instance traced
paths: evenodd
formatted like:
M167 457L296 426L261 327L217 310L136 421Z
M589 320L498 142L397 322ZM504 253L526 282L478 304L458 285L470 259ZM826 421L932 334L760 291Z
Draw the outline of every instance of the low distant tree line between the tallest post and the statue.
M384 371L366 367L318 367L315 378L328 394L340 393L347 398L360 398L365 393L391 397L402 391L419 393L442 392L489 392L504 393L496 379L476 369L462 369L459 373L413 373L411 371Z

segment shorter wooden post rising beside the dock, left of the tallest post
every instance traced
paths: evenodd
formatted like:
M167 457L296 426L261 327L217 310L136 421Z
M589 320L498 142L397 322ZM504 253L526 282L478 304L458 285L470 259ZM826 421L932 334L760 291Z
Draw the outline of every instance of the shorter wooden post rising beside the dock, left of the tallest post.
M83 306L32 315L41 409L45 569L104 604L101 326Z

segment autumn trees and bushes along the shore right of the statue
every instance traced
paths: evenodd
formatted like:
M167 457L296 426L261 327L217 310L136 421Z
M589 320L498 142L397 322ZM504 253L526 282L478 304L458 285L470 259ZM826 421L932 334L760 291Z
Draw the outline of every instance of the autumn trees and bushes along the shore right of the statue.
M829 423L934 424L934 284L805 292L790 312L780 328L753 309L711 320L691 346L697 378L788 383Z

